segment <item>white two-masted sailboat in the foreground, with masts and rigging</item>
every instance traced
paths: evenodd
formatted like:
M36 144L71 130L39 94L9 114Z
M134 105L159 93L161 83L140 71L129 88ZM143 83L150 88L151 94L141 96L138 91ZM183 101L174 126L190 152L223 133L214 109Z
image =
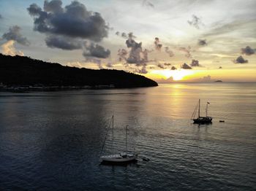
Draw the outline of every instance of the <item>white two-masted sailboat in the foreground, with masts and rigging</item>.
M112 120L110 121L110 125L111 125L111 123L112 123L112 129L114 130L114 125L113 125L114 118L113 118L113 116L112 116ZM110 125L108 127L108 130L110 129ZM119 154L114 154L114 155L103 155L103 156L100 157L102 162L107 162L107 163L129 163L129 162L132 162L132 161L137 159L137 157L138 157L137 153L135 153L135 152L129 152L128 153L127 152L127 129L128 129L128 125L125 128L125 152L121 152ZM107 132L107 135L105 137L105 141L107 139L107 136L108 136L108 132ZM104 141L104 144L102 146L102 150L104 148L105 141Z

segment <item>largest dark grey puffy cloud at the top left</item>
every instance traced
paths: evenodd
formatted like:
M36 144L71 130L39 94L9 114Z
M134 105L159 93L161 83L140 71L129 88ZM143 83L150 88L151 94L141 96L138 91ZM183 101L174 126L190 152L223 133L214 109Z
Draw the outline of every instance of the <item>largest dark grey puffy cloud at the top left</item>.
M108 36L109 27L98 12L90 12L84 4L72 1L61 7L61 1L45 1L42 10L31 4L29 14L34 17L34 30L45 34L60 34L69 37L101 41Z

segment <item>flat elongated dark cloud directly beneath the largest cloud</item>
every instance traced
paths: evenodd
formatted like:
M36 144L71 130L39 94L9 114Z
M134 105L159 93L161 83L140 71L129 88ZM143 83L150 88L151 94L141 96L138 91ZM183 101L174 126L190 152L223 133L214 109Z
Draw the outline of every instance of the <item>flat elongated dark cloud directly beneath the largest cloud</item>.
M78 50L83 47L83 42L64 36L50 35L45 39L45 43L51 48L60 48L62 50Z

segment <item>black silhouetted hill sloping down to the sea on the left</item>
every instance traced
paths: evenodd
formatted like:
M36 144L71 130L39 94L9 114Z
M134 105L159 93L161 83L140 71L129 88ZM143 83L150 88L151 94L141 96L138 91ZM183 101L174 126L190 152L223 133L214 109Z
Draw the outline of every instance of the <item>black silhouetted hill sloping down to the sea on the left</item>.
M108 69L78 69L24 56L0 54L0 83L4 85L115 85L151 87L157 82L138 74Z

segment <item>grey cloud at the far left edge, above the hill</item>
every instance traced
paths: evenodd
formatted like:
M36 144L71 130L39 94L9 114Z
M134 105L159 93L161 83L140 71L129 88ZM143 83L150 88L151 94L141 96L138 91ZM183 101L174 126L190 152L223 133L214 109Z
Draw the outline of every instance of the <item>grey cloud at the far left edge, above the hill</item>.
M19 44L29 46L29 40L20 34L20 30L21 28L19 26L12 26L7 33L3 34L2 38L7 39L7 41L14 40Z

